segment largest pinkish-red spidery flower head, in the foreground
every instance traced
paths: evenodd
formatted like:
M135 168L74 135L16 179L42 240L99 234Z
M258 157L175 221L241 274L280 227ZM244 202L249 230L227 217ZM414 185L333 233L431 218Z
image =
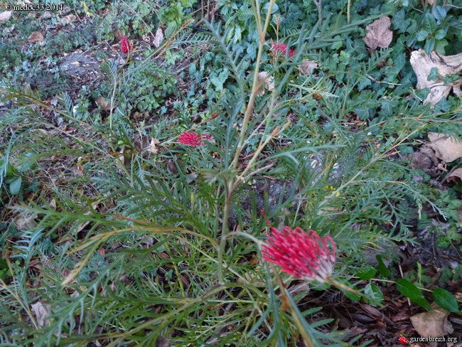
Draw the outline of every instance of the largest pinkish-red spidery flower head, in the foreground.
M331 277L335 242L330 236L322 238L314 230L305 233L299 227L294 230L284 227L281 232L271 227L268 245L262 247L262 258L279 265L287 274L323 283Z

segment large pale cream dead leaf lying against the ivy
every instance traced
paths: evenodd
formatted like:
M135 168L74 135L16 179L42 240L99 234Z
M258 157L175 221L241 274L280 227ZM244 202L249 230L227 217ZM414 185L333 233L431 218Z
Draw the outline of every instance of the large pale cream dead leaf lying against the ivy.
M430 88L430 94L424 100L424 104L429 102L432 106L436 105L443 97L448 97L451 89L455 95L462 95L462 78L448 85L444 85L443 81L446 75L455 75L462 70L462 53L446 56L433 51L427 55L424 50L419 49L411 53L410 62L417 75L417 89ZM436 68L439 78L429 80L433 68Z

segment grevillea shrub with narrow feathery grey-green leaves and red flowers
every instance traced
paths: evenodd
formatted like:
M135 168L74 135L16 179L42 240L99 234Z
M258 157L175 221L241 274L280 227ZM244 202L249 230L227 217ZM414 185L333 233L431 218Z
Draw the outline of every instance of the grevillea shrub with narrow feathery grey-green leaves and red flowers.
M9 206L20 213L4 234L5 240L11 238L4 242L11 278L0 276L1 343L253 347L298 346L301 339L306 346L351 342L343 341L347 334L340 336L333 324L326 326L331 321L321 326L313 318L321 308L302 313L305 302L292 297L292 289L307 282L307 289L319 291L357 290L358 299L374 294L366 294L362 281L354 282L356 269L365 265L360 250L409 241L403 222L407 204L417 200L421 205L425 199L388 156L409 140L403 129L415 134L426 125L419 123L420 116L402 119L400 114L363 129L345 126L363 106L351 106L350 97L360 94L353 90L360 83L355 78L370 74L390 52L361 62L368 69L362 74L349 75L350 66L355 68L350 58L360 45L352 46L351 56L343 51L326 55L318 73L299 71L302 58L323 57L321 48L343 44L343 37L369 18L345 20L340 27L326 18L323 26L284 31L286 37L279 40L271 31L275 1L264 9L262 1L245 4L254 14L245 28L251 36L247 46L228 42L221 22L204 21L205 33L194 35L187 29L192 23L178 30L164 23L168 38L162 46L134 62L131 44L123 38L120 49L127 62L102 65L112 96L109 120L98 126L75 117L70 97L53 106L27 88L0 87L0 97L6 95L18 107L0 117L1 129L11 135L1 153L8 194L11 186L21 188L21 180L27 181L21 178L19 187L11 181L18 174L7 176L9 161L32 170L34 159L37 176L48 177L50 158L72 157L55 174L62 176L63 168L66 175L78 174L44 184L31 194L39 196L36 200ZM227 9L232 7L222 7ZM203 113L195 114L199 122L189 117L182 105L191 100L181 94L175 95L177 109L170 113L166 106L165 118L151 114L149 122L135 120L123 105L136 99L124 100L124 95L139 90L121 90L151 73L159 55L170 49L213 56L216 66L188 55L190 68L182 65L181 73L192 75L197 63L205 71L197 78L203 82L216 78L208 70L219 68L222 90L213 95L190 89L193 96L209 98L208 105L200 105ZM337 70L326 70L329 64ZM262 72L272 85L265 93ZM339 82L345 76L350 84ZM165 87L156 86L153 92ZM367 102L372 98L362 94ZM395 101L383 98L382 108ZM43 110L59 114L65 124L50 123ZM356 116L353 120L360 124ZM393 134L387 143L373 138L378 127ZM262 182L268 183L267 192L259 194ZM275 194L277 184L283 188ZM281 218L281 227L269 225L265 233L262 205L269 219ZM390 230L382 231L384 226ZM43 319L36 319L40 314Z

